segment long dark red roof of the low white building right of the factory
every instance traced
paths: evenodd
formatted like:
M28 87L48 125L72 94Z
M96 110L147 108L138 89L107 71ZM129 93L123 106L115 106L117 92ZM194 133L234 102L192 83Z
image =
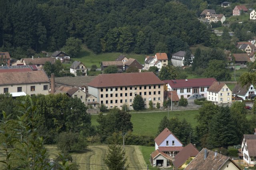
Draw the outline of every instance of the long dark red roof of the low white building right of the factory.
M172 88L210 87L215 81L217 81L215 78L163 80L164 83L168 83Z

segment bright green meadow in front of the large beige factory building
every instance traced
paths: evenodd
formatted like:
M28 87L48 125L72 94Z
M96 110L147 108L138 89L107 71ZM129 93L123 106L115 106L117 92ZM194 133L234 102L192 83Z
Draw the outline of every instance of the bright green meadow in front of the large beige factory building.
M169 112L169 117L176 117L179 120L185 118L190 124L195 127L197 121L195 115L198 110L182 110ZM131 113L131 121L133 123L133 132L142 135L156 136L160 121L164 116L168 116L168 112L152 112L152 113ZM98 115L92 115L92 124L97 125L96 119Z

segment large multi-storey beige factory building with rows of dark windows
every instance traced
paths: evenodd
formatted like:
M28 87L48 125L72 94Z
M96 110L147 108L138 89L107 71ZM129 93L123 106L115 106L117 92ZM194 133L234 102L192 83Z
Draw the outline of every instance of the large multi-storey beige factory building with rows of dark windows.
M145 108L149 108L150 100L156 107L157 103L162 106L164 102L164 82L153 72L100 74L88 83L88 93L107 108L121 109L126 104L132 109L136 95L144 98Z

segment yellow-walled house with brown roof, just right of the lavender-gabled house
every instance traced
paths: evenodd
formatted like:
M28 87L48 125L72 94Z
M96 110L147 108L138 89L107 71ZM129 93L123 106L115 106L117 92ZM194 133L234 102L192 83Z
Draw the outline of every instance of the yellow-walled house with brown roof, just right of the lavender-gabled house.
M190 158L194 159L199 151L196 149L195 145L188 144L185 146L175 157L173 165L176 170L183 169L187 166L186 161Z

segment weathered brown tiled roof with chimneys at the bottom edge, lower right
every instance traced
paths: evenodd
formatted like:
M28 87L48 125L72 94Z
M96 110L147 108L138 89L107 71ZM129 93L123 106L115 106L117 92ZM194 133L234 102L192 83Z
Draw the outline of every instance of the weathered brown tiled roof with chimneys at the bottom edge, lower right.
M225 162L230 160L238 169L242 170L230 157L207 150L207 157L204 159L206 148L203 148L197 156L188 164L185 170L219 170Z

